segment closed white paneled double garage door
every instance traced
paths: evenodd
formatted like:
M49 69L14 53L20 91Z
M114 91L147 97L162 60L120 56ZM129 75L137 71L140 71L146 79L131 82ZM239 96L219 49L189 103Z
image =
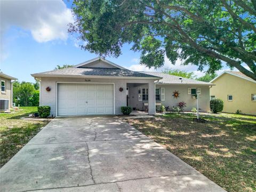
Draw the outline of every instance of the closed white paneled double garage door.
M58 116L114 114L113 84L58 83Z

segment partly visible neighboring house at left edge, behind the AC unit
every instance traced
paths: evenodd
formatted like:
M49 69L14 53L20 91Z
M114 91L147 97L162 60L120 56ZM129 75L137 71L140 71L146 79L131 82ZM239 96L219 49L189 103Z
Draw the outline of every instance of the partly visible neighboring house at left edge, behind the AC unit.
M1 93L0 93L0 110L8 110L12 107L12 81L17 80L0 72Z

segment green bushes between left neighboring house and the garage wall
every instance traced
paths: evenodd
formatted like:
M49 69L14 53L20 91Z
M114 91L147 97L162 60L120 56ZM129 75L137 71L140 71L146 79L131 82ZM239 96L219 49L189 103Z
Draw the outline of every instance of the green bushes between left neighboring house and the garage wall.
M13 82L13 102L16 106L32 106L32 103L30 102L31 100L33 100L33 103L37 103L35 99L38 98L39 102L39 97L36 97L35 95L33 98L35 91L36 90L33 83Z

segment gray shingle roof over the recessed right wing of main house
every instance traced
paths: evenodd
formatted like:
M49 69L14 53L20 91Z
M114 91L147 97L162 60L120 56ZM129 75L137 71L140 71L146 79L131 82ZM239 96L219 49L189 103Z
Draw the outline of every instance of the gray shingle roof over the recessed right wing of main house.
M161 80L159 80L156 84L178 84L178 85L214 85L212 83L207 83L207 82L202 82L202 81L197 81L195 79L189 79L189 78L184 78L180 79L179 76L175 75L169 75L161 72L141 72L145 73L148 75L155 75L158 77L163 77Z

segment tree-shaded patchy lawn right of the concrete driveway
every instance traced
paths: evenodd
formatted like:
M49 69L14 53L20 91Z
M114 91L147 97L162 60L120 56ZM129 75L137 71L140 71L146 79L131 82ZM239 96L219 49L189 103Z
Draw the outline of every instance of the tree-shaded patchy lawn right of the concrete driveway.
M194 117L170 113L127 122L227 191L256 191L256 117L209 114L206 123Z

